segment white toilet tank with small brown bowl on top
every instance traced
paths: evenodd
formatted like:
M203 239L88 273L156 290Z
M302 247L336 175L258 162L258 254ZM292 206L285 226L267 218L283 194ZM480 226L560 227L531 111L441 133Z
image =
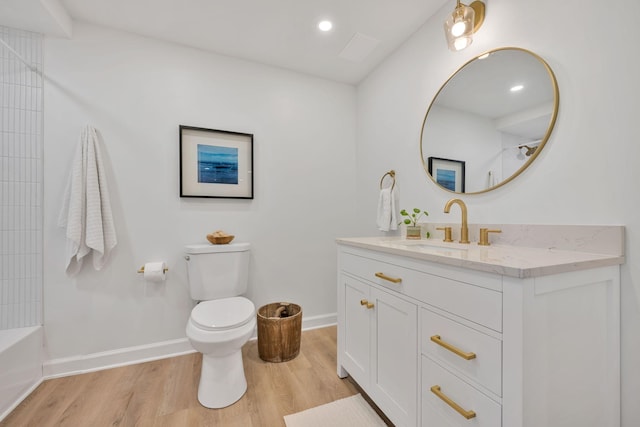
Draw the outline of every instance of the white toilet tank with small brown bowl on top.
M206 301L242 295L249 279L249 243L185 246L191 298Z

